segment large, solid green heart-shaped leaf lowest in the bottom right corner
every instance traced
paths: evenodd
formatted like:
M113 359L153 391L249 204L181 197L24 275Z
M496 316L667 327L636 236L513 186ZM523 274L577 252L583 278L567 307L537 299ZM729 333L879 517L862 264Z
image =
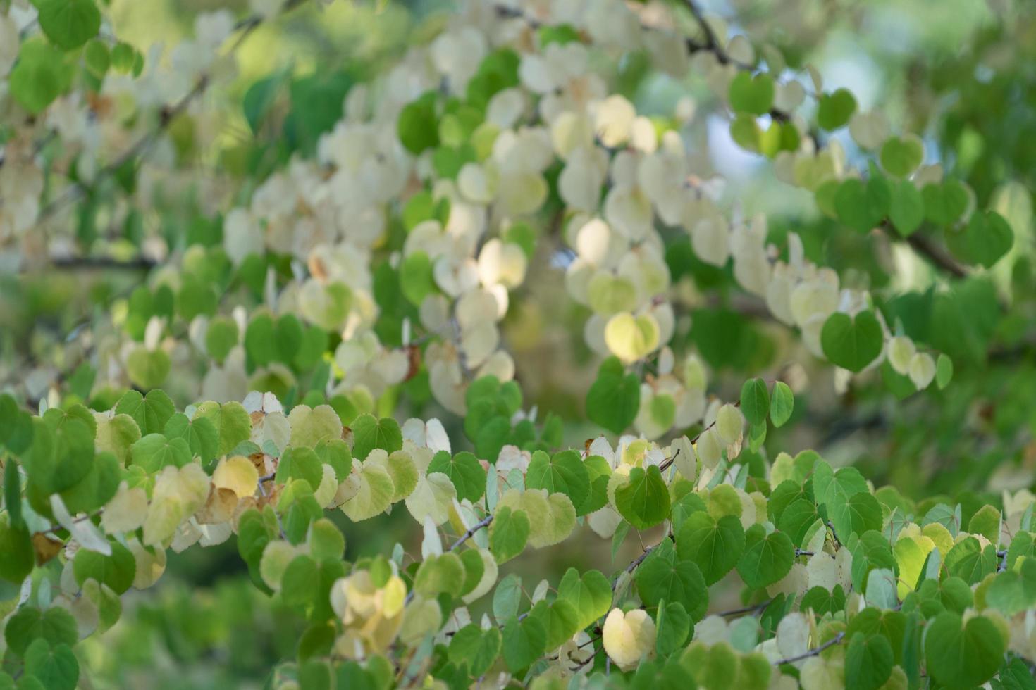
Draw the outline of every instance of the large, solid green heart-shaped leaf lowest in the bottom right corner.
M962 625L959 616L946 611L928 622L924 634L928 674L947 688L988 681L1003 663L1005 648L996 624L982 616Z

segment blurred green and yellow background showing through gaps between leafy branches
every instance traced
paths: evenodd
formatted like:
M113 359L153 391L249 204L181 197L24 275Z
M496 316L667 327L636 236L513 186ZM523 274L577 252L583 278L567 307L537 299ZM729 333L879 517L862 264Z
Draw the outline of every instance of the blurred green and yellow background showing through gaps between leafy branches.
M485 0L488 2L488 0ZM638 112L671 116L691 99L687 124L694 170L720 173L725 196L743 212L764 211L771 240L788 232L804 240L807 256L838 271L845 286L869 287L885 300L890 323L899 313L920 313L919 328L955 364L944 392L904 392L873 377L847 393L836 389L832 367L822 365L786 327L765 309L745 308L726 271L696 262L689 246L674 242L667 256L688 311L678 326L674 349L696 349L711 372L710 392L733 399L745 372L779 373L797 385L793 423L773 431L767 446L819 451L833 464L856 463L875 485L893 484L906 497L922 492L953 497L965 512L1002 491L1033 486L1036 471L1036 290L1033 289L1032 205L1036 178L1036 3L1029 0L728 0L706 1L724 18L729 33L769 41L783 52L786 78L809 85L803 69L816 67L825 89L846 87L863 111L881 110L893 130L921 134L926 162L941 162L966 181L979 207L990 206L1011 223L1015 245L994 271L955 283L961 299L941 300L945 276L902 244L880 236L833 232L836 223L816 209L811 193L778 181L772 161L738 147L729 138L722 102L699 76L675 79L653 72L643 56L628 55L609 67L616 90ZM155 230L175 238L203 232L198 197L247 199L255 186L295 154L312 152L317 137L341 117L349 87L404 58L409 46L434 36L452 3L306 3L259 27L237 51L232 87L206 94L218 117L194 123L210 128L212 146L196 146L194 132L171 128L176 155L192 169L195 186L154 212L134 218L133 233ZM200 12L221 8L235 17L248 3L219 0L112 0L109 16L119 36L148 60L193 32ZM645 11L650 9L650 4ZM810 89L811 90L811 87ZM247 117L250 99L267 98L260 122ZM807 102L806 108L810 108ZM847 131L835 137L851 164L861 153ZM215 175L214 172L220 174ZM227 175L234 185L228 184ZM96 232L96 218L79 220L79 234ZM135 229L136 228L136 229ZM173 242L171 242L173 244ZM689 244L689 243L688 243ZM582 446L598 433L581 422L583 396L597 360L582 346L586 313L564 291L563 248L541 242L538 260L505 324L517 361L525 406L567 420L567 443ZM147 266L68 266L45 269L0 249L0 378L46 376L42 362L67 356L62 343L93 314L111 308ZM891 269L896 282L888 283ZM728 319L730 309L747 318ZM694 324L699 324L695 330ZM700 324L721 325L724 343L700 334ZM913 334L912 334L913 335ZM61 362L57 362L60 366ZM26 374L28 372L28 374ZM24 382L23 382L24 383ZM27 384L27 385L28 385ZM420 400L420 396L419 396ZM400 413L442 419L463 445L459 420L432 402ZM974 510L974 508L972 508ZM350 524L347 559L386 553L397 541L420 548L412 522L399 514ZM611 569L640 551L636 535L620 544ZM572 540L564 549L526 554L501 570L523 575L527 589L542 577L556 579L570 565L612 563L611 544ZM723 608L722 593L713 608ZM738 605L730 592L730 606ZM488 605L486 602L484 605ZM167 574L146 592L123 598L125 614L107 634L81 644L83 687L260 687L271 662L293 656L300 628L276 602L255 590L234 540L209 549L171 554ZM729 607L729 606L728 606ZM472 610L473 618L481 609Z

